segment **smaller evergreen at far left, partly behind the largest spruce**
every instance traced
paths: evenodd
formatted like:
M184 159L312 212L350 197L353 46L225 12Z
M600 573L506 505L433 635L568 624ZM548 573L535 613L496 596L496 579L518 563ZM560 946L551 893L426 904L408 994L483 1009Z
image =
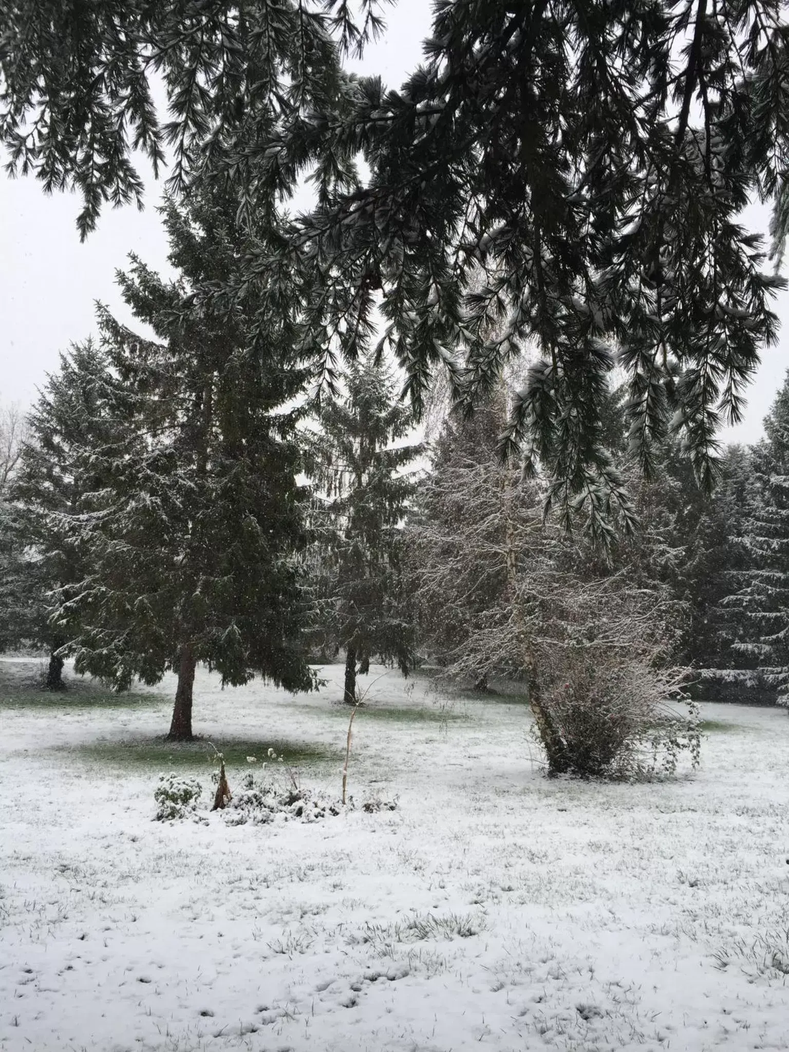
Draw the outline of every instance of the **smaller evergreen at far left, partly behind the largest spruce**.
M16 632L18 640L48 651L49 690L63 687L60 648L66 642L49 620L52 592L86 572L80 539L69 535L61 517L77 514L83 497L96 488L89 453L107 441L108 399L112 379L99 347L88 340L61 355L59 371L47 377L27 416L27 441L11 489L24 611Z

